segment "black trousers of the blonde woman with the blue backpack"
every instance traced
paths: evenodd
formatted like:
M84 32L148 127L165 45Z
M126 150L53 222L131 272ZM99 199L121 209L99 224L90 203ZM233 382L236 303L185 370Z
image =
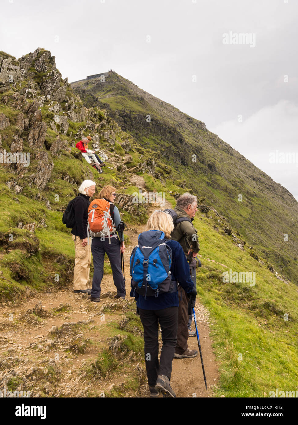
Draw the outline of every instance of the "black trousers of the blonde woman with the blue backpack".
M139 309L139 315L144 327L148 384L150 387L154 387L158 375L171 378L172 361L177 342L178 307L168 307L162 310ZM162 351L159 361L158 323L162 329Z

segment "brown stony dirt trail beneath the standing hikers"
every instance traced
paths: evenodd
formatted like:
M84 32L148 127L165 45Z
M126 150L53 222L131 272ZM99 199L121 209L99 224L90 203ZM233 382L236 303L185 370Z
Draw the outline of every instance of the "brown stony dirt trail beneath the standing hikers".
M142 178L133 176L131 180L145 190ZM144 353L130 351L123 346L125 336L111 331L115 322L125 330L128 312L135 311L135 301L129 297L129 258L143 228L126 232L130 242L124 255L125 300L114 299L112 275L105 274L100 303L92 303L86 294L74 294L70 286L0 306L0 388L29 389L30 397L115 397L116 388L122 397L149 397ZM199 354L193 359L173 359L171 385L177 397L213 397L218 381L209 315L199 299L195 311L208 390ZM136 327L133 332L142 336ZM188 343L191 349L198 349L196 337ZM103 370L96 359L107 351L110 361L114 356L114 368ZM138 382L137 388L130 385L131 376Z

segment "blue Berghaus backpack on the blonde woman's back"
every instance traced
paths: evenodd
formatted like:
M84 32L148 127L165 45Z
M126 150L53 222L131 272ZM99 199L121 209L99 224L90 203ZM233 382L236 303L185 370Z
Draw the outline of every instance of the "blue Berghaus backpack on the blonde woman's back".
M130 258L131 284L134 292L158 297L159 292L176 292L177 283L171 280L172 250L166 244L161 230L139 234L139 246L133 248ZM134 293L133 292L133 293Z

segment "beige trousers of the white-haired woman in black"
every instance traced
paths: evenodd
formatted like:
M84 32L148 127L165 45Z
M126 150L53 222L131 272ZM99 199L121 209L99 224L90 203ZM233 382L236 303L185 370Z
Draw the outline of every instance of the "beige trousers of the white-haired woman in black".
M75 239L75 240L74 240ZM91 239L89 244L82 246L82 239L72 235L76 255L74 259L74 291L87 289L91 263Z

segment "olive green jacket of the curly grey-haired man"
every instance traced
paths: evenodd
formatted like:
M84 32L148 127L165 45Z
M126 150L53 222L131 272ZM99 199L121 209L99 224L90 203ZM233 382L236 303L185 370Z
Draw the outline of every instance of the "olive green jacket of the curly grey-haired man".
M191 220L189 215L187 215L182 208L175 207L174 211L177 212L177 218L187 217ZM184 254L187 255L190 248L192 248L195 253L198 253L200 250L200 244L197 233L198 231L193 227L193 224L190 221L185 220L176 224L175 229L171 233L171 239L179 242L183 248Z

